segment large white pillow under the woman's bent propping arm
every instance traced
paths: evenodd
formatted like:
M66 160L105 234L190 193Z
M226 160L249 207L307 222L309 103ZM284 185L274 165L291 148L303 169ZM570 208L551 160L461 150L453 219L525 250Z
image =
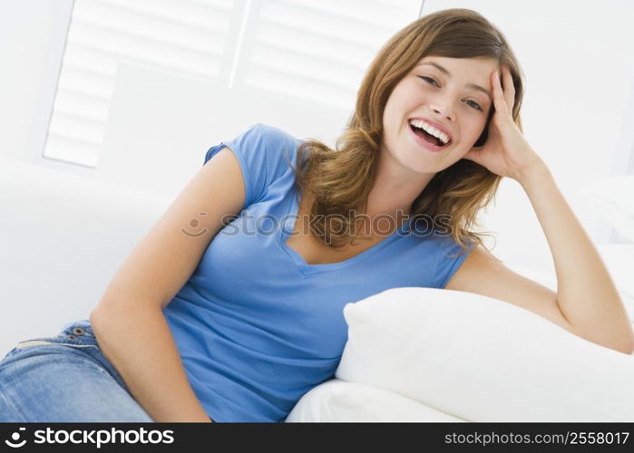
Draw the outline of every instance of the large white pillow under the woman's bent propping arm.
M634 421L634 358L491 297L395 288L346 304L337 379L469 421Z

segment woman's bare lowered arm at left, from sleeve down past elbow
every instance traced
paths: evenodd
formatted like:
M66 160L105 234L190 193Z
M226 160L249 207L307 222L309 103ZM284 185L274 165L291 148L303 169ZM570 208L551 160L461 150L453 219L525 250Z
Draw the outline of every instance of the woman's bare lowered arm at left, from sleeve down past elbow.
M244 199L239 160L221 149L132 250L90 315L103 354L155 421L210 421L162 309L195 271L222 218L239 213ZM194 218L200 224L190 234Z

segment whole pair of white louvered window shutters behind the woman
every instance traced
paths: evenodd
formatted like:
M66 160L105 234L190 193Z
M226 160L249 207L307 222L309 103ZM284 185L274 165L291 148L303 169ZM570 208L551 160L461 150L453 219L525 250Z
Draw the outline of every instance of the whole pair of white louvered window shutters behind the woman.
M420 5L75 0L44 157L97 166L122 61L350 110L376 51Z

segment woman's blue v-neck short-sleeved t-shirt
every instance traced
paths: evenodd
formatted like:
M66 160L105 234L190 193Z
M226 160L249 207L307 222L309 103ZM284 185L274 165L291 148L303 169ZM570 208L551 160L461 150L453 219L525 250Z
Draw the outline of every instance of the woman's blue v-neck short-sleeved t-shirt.
M225 145L234 152L244 207L163 313L215 421L284 421L304 393L334 378L347 339L344 305L389 288L443 288L468 255L448 257L460 252L449 236L407 235L406 221L359 255L308 265L286 245L298 204L284 156L296 165L300 143L256 124L205 156Z

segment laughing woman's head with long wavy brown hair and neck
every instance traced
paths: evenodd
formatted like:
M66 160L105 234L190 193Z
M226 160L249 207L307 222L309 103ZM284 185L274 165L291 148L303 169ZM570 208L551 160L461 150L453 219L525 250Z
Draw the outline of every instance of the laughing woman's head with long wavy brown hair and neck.
M392 216L401 210L437 222L446 215L463 251L483 245L484 234L473 231L476 214L491 202L501 177L463 157L488 137L495 112L491 73L502 64L512 74L512 118L522 129L520 64L482 15L466 9L428 14L385 43L361 82L337 152L318 140L305 140L297 151L297 185L314 195L308 211L319 240L332 247L354 241L354 228L346 228L352 209ZM438 141L428 144L416 127ZM439 146L444 139L449 142ZM333 234L320 219L327 214L344 219L337 226L343 233Z

